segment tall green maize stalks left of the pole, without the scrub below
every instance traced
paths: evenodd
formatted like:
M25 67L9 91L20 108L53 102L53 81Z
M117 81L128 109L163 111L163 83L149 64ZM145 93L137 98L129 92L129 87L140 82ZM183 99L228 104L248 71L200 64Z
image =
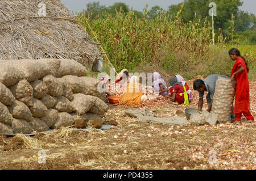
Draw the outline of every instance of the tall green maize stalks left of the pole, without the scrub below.
M207 25L200 26L195 21L183 23L179 15L173 21L168 20L166 14L151 20L147 16L145 9L141 19L135 16L134 11L129 11L94 20L84 12L79 14L79 20L89 22L118 70L134 68L145 62L160 64L162 60L156 57L165 46L176 52L186 50L195 56L206 51L205 47L211 39ZM87 24L84 26L89 29ZM92 32L88 32L93 37Z

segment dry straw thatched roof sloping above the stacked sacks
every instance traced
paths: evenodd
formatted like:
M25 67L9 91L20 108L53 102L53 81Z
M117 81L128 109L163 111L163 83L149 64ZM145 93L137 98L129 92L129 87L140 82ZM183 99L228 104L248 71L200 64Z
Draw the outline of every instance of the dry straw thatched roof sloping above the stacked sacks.
M46 4L44 18L40 2ZM0 60L67 58L88 65L99 58L81 24L68 19L76 20L60 0L1 0Z

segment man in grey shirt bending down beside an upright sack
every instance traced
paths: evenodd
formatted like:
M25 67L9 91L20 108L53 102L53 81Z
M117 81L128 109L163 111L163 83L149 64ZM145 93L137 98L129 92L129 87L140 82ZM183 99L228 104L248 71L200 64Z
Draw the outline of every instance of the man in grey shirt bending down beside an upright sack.
M218 76L224 77L224 78L229 78L228 76L225 76L225 75L213 74L213 75L209 75L204 80L196 79L196 81L194 81L193 89L199 92L198 111L201 111L203 108L204 91L208 92L207 97L206 97L207 104L208 104L207 111L210 112L210 110L212 110L213 95L215 92L215 86L216 86L216 81L218 79ZM231 118L234 119L234 113L232 113Z

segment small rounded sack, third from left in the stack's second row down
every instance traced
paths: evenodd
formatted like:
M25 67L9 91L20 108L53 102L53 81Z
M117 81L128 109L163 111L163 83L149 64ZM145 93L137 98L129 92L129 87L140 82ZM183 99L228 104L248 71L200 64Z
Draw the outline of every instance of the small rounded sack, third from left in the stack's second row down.
M34 98L40 99L40 98L43 98L43 96L46 96L46 94L48 94L46 83L36 79L35 81L30 82L30 84L34 90L34 94L33 94Z

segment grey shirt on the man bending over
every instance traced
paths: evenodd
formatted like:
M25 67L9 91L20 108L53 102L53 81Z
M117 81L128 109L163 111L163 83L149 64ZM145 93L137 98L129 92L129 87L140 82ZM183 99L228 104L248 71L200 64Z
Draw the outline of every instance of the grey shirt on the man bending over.
M210 94L210 99L213 98L213 95L214 95L214 92L215 92L216 81L218 79L218 76L229 78L226 75L213 74L213 75L209 75L207 78L203 79L205 88L206 88L208 94ZM199 92L199 98L203 98L203 96L204 96L204 92Z

